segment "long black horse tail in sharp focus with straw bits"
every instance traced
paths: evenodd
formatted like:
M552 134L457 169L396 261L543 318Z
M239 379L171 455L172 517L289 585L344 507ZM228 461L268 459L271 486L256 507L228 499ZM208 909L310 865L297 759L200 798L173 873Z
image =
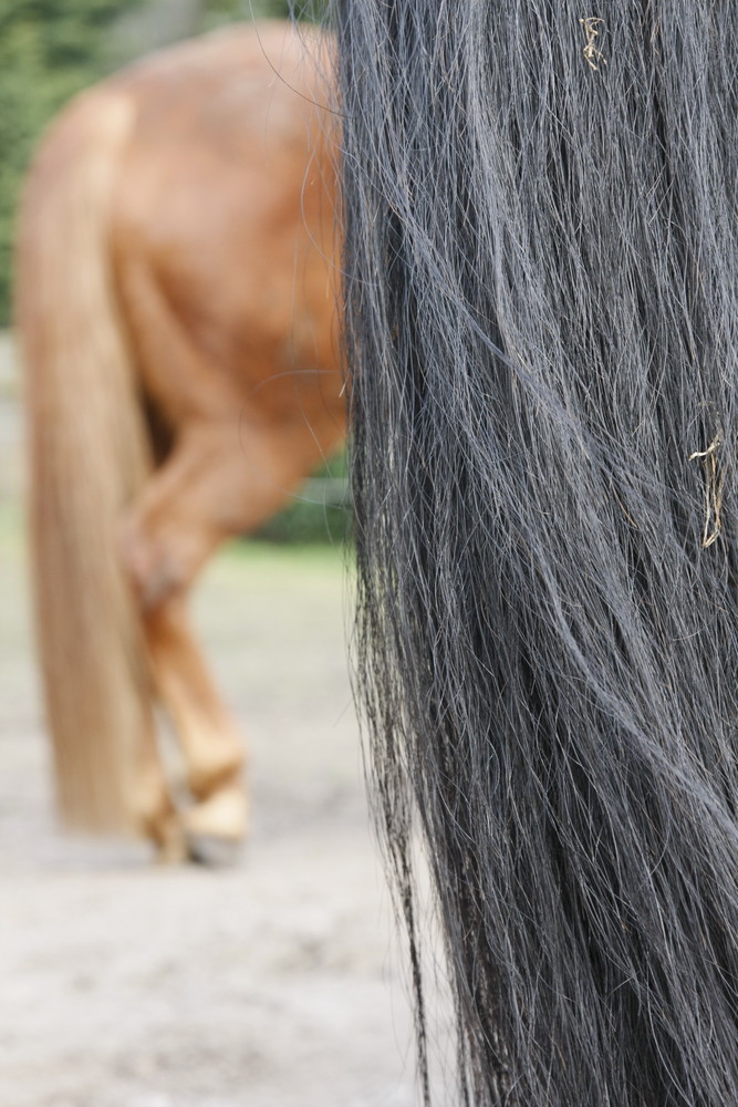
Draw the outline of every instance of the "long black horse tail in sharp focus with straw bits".
M335 14L358 687L422 1072L416 827L459 1103L736 1105L735 7Z

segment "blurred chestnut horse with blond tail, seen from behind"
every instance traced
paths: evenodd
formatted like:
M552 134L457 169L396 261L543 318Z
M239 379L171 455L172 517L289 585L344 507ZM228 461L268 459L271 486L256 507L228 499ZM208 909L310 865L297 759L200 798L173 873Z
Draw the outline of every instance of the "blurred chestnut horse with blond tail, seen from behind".
M242 744L189 589L345 433L330 49L264 23L127 69L54 123L22 206L32 576L60 807L169 859L247 828ZM181 743L184 811L157 701Z

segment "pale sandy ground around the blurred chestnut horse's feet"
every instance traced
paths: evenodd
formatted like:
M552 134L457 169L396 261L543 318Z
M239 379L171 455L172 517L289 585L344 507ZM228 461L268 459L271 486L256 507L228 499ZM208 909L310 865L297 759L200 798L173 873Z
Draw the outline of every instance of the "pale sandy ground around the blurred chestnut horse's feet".
M18 423L3 403L8 456ZM344 590L337 550L231 548L210 567L197 621L248 735L253 830L235 869L157 869L144 847L54 825L20 511L6 488L0 1107L416 1101Z

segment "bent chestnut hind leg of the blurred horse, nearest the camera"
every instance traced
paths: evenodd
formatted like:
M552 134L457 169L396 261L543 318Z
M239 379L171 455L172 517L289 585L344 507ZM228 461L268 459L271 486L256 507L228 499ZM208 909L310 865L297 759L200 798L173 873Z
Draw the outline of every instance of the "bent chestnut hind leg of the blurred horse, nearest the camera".
M243 837L247 797L243 746L189 629L187 594L226 537L253 529L285 499L285 482L297 474L288 473L284 457L271 434L260 442L249 433L243 442L235 421L200 421L179 435L124 528L152 672L185 758L193 806L184 818L194 852Z

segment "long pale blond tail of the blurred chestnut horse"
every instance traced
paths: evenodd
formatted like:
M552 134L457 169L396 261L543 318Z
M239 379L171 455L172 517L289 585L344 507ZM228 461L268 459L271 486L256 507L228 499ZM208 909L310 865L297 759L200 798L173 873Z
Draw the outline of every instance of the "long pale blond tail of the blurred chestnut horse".
M106 256L129 124L122 96L73 104L42 146L19 227L38 648L61 811L92 830L131 823L136 749L152 726L118 557L121 510L145 477L147 443Z

